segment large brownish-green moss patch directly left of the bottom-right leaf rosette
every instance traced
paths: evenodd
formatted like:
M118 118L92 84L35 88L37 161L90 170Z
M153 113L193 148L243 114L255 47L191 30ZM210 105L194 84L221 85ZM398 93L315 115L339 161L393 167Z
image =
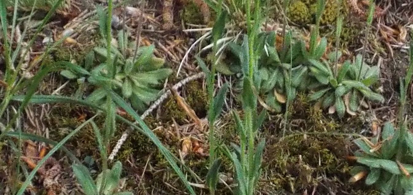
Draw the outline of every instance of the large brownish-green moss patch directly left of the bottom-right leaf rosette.
M267 146L263 167L274 188L294 193L325 184L319 177L322 174L347 180L350 168L345 160L349 152L346 148L347 140L343 137L290 136ZM261 185L266 186L266 183L261 182ZM320 190L318 188L318 193L328 194Z

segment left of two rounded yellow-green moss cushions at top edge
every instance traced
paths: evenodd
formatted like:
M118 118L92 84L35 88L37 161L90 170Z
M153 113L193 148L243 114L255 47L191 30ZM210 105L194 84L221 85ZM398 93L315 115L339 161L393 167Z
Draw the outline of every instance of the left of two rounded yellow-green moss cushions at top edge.
M288 7L287 16L294 23L303 25L311 22L311 13L309 8L304 2L295 0L292 2L290 7Z

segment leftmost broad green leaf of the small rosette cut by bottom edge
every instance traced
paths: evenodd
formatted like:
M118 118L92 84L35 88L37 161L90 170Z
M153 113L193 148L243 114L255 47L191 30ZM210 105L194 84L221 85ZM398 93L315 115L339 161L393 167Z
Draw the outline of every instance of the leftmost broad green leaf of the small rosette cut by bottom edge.
M86 195L97 195L97 188L88 168L83 164L73 164L72 169L78 183L82 186L83 192Z

